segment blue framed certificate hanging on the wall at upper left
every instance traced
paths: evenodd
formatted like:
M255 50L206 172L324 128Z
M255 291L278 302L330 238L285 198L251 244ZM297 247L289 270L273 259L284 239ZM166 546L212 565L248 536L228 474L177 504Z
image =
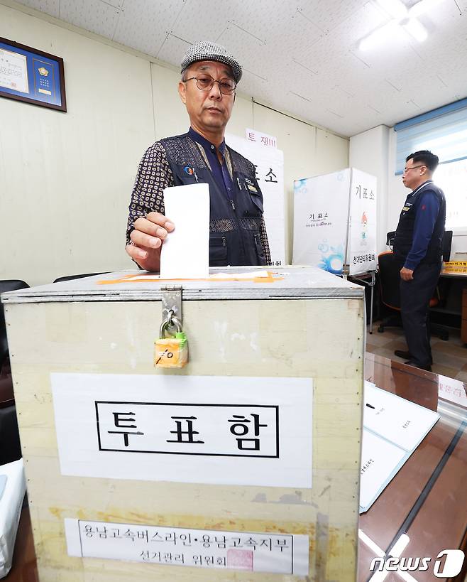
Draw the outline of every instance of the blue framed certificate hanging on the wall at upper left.
M63 59L0 37L0 97L66 112Z

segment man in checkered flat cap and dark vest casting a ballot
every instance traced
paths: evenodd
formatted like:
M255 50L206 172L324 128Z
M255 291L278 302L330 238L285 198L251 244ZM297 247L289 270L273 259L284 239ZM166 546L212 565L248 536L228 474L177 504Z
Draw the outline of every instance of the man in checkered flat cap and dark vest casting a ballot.
M241 66L223 46L202 42L189 47L181 69L178 92L190 127L145 152L131 195L126 252L142 269L159 271L160 249L177 226L164 215L164 188L207 183L210 266L270 264L255 168L224 140Z

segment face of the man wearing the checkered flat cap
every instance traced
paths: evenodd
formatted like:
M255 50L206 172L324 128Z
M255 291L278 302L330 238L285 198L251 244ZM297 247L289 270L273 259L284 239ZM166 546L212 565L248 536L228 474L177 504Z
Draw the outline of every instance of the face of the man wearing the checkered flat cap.
M185 71L185 79L199 75L211 75L215 80L228 77L233 79L232 71L227 65L212 60L194 63ZM234 106L234 95L224 95L219 90L219 83L214 83L207 91L199 90L196 80L180 82L178 85L180 99L185 103L189 121L194 129L201 131L219 131L224 129L230 119Z

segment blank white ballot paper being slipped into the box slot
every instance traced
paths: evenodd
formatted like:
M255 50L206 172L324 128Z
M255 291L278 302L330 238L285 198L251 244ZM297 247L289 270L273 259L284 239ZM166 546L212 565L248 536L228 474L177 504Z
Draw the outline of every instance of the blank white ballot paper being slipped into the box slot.
M164 207L175 230L162 247L161 279L204 279L209 275L209 185L165 188Z

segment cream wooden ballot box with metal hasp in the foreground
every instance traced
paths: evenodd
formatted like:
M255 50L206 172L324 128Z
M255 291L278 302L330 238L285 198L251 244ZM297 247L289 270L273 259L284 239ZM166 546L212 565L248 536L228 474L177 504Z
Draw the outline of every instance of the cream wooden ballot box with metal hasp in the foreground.
M363 288L126 271L2 301L40 582L356 579Z

